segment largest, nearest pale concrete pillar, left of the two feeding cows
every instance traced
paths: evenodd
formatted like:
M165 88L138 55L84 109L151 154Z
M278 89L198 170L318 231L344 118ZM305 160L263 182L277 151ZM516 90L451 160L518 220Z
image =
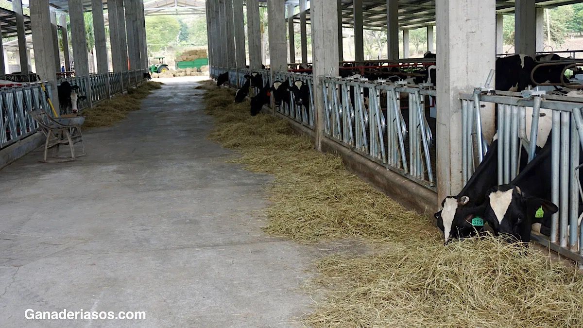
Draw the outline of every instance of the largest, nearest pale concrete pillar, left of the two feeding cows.
M445 196L462 189L460 92L484 85L494 68L495 2L437 1L437 193ZM475 49L481 49L475 51ZM494 126L493 107L482 110L485 133ZM438 204L436 204L438 206Z

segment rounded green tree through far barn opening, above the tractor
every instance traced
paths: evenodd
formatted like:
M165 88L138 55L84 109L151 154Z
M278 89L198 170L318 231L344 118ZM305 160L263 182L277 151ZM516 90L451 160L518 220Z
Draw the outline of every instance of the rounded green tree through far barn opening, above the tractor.
M180 23L174 16L146 16L146 37L149 51L166 51L175 43L180 32Z

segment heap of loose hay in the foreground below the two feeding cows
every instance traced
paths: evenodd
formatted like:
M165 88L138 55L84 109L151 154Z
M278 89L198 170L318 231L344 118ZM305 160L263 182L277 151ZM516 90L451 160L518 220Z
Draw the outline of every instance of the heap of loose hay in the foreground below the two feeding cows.
M496 238L318 261L314 327L581 327L583 276Z

